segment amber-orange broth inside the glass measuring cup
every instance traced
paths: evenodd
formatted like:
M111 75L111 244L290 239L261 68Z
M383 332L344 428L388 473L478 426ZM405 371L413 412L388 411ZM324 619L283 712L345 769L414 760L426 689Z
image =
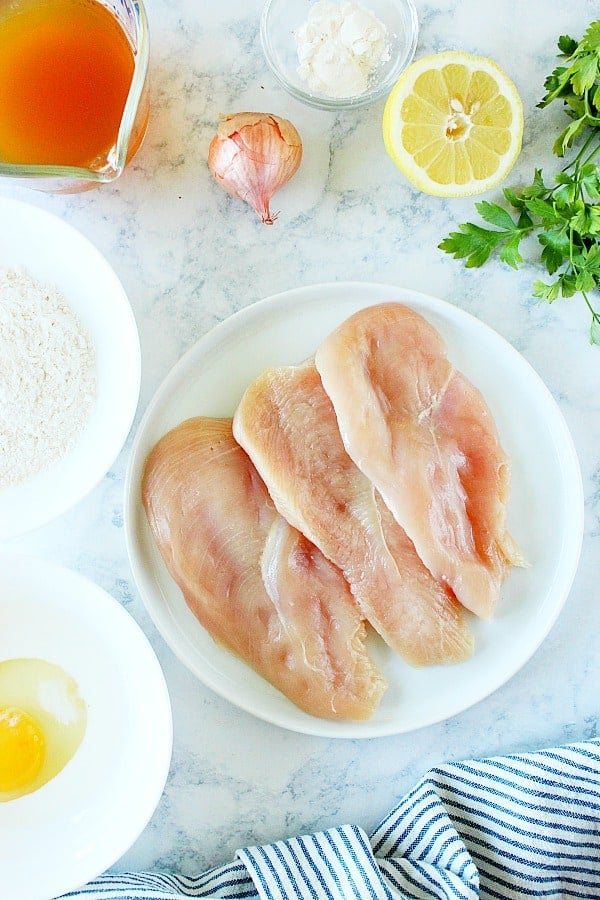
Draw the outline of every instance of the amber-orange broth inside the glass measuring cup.
M0 4L0 160L101 168L133 73L127 35L96 0Z

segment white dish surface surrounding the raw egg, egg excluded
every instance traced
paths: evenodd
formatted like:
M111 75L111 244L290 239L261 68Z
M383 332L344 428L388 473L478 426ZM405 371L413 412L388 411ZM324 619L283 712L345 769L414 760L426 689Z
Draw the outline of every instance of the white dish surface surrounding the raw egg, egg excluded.
M0 660L62 666L88 706L83 742L62 772L0 803L0 895L49 900L113 865L145 828L169 771L171 707L145 635L101 588L4 552L0 593Z

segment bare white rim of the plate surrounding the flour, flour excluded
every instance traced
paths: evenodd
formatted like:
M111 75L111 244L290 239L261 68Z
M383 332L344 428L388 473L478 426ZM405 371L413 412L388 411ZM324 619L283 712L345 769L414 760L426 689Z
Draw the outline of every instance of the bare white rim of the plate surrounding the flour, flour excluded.
M116 274L58 216L0 198L0 268L25 269L58 287L96 349L97 398L73 450L45 472L0 489L0 540L50 522L86 496L118 456L140 391L140 344Z

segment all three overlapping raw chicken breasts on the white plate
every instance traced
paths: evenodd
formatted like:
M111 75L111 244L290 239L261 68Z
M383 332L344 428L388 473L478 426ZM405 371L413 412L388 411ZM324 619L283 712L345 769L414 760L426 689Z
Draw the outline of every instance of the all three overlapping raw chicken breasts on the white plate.
M371 626L415 666L473 652L512 565L510 464L480 392L400 303L265 371L233 419L150 453L142 499L198 620L311 715L365 719L385 680Z

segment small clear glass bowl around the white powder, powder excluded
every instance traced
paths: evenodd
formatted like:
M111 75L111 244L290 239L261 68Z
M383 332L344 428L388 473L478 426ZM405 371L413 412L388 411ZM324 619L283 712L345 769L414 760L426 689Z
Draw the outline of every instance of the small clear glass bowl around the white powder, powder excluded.
M297 100L319 109L340 110L367 106L388 94L400 72L411 62L417 46L419 22L413 0L360 0L387 28L389 59L369 77L365 92L350 97L315 93L298 74L297 29L306 22L311 0L267 0L260 21L260 38L269 68Z

